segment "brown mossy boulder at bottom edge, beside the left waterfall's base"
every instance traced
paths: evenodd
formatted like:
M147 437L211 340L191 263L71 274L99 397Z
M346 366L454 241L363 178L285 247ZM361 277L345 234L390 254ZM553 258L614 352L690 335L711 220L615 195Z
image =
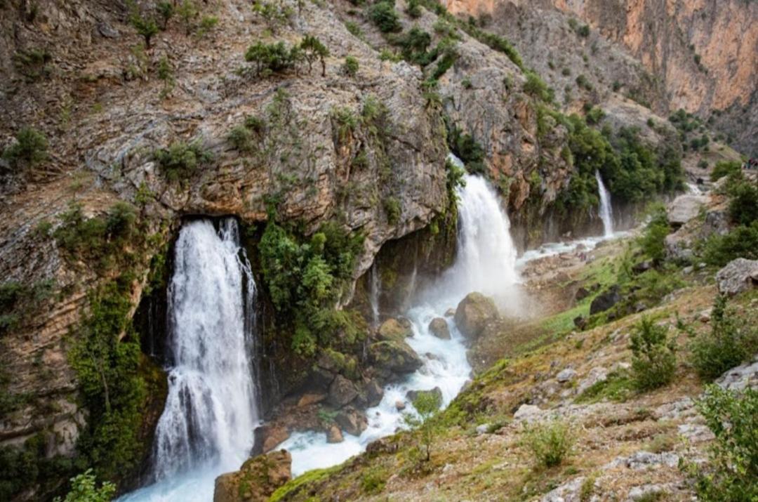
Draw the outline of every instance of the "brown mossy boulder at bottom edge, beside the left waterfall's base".
M213 502L265 502L292 478L292 456L272 451L246 460L239 471L216 478Z

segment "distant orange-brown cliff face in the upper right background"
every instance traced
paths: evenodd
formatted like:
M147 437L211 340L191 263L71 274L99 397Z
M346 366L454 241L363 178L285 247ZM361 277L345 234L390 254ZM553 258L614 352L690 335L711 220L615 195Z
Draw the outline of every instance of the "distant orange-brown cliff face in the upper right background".
M615 60L606 61L602 71L622 83L625 91L634 90L638 96L647 96L661 115L684 108L709 118L716 130L731 136L730 143L735 148L756 153L753 138L758 130L755 106L758 6L754 2L449 0L446 3L453 12L491 16L493 24L502 25L523 52L535 48L534 42L541 38L540 29L553 32L544 35L555 40L559 36L556 30L568 30L565 24L568 18L578 18L580 24L586 23L592 32L600 34L600 37L590 35L593 55L597 51L601 58ZM562 22L556 22L559 19L556 14L561 14ZM537 40L532 38L535 35ZM615 47L609 47L606 41L613 42ZM544 53L546 48L537 46ZM548 42L547 47L556 58L572 52L572 45ZM622 70L619 61L628 58L627 55L639 61L649 75L619 71ZM657 84L662 93L651 94L648 88Z

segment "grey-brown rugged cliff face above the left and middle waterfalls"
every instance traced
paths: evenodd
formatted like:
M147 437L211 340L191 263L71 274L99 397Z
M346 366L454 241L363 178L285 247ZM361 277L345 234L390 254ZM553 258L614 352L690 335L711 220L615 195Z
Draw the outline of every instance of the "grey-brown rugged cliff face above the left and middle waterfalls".
M149 49L120 3L0 7L2 143L11 144L25 126L49 141L48 158L26 172L5 161L0 166L0 277L8 284L52 280L55 292L0 340L2 397L15 403L0 422L3 447L19 447L44 431L52 434L45 436L42 457L70 456L87 422L67 354L89 293L126 270L103 272L87 260L64 258L52 233L71 201L85 218L104 215L117 201L139 207L139 220L153 237L130 265L130 312L143 295L151 259L164 252L188 215L236 215L255 224L275 211L306 233L338 221L346 231L365 234L358 278L383 243L446 211L442 108L424 96L418 67L379 58L385 42L368 21L349 14L347 2L287 7L286 20L277 25L248 2L207 2L186 20L169 20ZM210 16L218 24L201 30L202 17ZM349 16L362 24L363 39L346 29ZM435 20L424 13L424 24ZM255 75L243 58L252 41L294 45L306 33L330 51L324 75L318 63L312 71L301 64L297 71ZM534 105L520 90L518 68L459 36L462 57L440 88L445 109L456 124L486 139L493 172L521 180L512 192L518 209L530 196L523 180L540 155L557 158L559 147L546 154L535 137ZM355 77L342 70L347 55L359 61ZM461 89L464 70L474 89ZM515 88L506 92L504 77L512 77ZM228 136L250 116L264 125L250 133L252 144L240 148ZM208 155L169 180L154 152L180 142L195 143ZM570 176L565 163L549 170L547 189L539 193L546 203ZM388 214L390 198L399 214ZM33 489L20 497L36 495Z

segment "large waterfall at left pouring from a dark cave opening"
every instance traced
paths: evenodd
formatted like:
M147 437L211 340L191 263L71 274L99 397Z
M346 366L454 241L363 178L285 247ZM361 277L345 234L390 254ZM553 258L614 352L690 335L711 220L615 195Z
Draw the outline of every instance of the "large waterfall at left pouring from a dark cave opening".
M155 483L121 500L212 500L215 478L249 457L255 283L236 221L190 221L168 287L168 397L155 430Z

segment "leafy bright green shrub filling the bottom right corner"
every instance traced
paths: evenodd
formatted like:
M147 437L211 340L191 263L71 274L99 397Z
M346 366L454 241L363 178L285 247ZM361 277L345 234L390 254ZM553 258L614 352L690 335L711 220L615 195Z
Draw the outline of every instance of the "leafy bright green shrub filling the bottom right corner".
M709 469L694 468L698 500L758 500L758 391L740 395L709 385L697 409L716 435Z

